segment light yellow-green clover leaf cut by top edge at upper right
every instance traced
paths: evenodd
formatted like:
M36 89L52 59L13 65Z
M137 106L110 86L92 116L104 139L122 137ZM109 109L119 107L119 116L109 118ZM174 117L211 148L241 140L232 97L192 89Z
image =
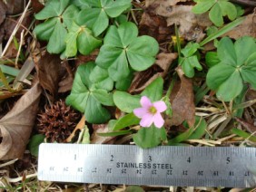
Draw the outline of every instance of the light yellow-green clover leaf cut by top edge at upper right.
M235 5L231 4L229 0L194 0L197 5L192 7L192 12L194 14L203 14L210 9L210 19L216 26L222 26L223 16L228 16L232 21L237 18L237 8Z

